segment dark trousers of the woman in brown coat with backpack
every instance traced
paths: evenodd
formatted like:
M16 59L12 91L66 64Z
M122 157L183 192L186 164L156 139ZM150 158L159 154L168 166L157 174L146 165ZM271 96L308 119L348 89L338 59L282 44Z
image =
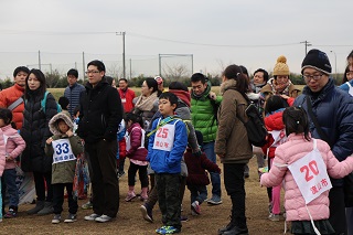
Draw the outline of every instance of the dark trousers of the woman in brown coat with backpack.
M247 227L245 217L244 165L245 163L223 164L224 184L232 200L232 222L240 228Z

